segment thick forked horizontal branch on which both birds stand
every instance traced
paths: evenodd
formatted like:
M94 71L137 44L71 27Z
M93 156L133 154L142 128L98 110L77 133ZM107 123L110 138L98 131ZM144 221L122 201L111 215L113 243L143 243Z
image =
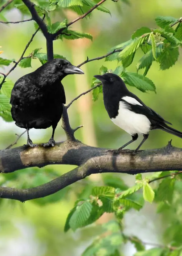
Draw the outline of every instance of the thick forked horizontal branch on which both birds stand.
M31 166L49 164L78 165L44 185L31 189L0 188L1 198L26 201L53 194L68 185L95 173L146 173L167 170L182 170L182 148L167 145L164 148L113 154L103 148L90 147L79 141L65 141L55 148L23 147L0 151L0 171L13 172Z

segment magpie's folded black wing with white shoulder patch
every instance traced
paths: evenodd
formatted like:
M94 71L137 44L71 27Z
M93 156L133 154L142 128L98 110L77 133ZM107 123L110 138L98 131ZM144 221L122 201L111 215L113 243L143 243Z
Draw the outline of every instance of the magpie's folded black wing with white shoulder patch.
M149 108L148 106L146 106L135 94L131 93L129 97L131 98L131 100L128 99L128 97L123 97L121 101L125 102L131 111L137 114L142 114L147 116L147 118L150 120L153 127L156 128L156 125L164 124L164 123L171 124L170 122L164 120L164 118L159 114L157 114L152 108ZM132 102L132 98L135 99L136 101L133 100Z

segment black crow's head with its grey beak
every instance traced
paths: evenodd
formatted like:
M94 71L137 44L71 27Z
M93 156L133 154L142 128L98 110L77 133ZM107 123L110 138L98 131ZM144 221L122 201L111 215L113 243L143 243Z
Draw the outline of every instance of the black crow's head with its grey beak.
M69 74L84 74L83 70L72 65L66 59L52 59L42 65L40 69L45 74L45 76L54 76L55 79L63 79L66 75Z

